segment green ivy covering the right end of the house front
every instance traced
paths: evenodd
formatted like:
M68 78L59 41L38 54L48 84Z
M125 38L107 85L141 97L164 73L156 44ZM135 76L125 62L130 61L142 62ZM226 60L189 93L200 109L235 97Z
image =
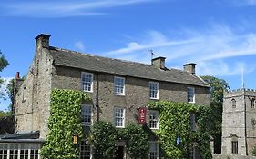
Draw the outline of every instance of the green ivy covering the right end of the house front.
M168 158L188 158L191 145L197 143L201 158L212 158L210 152L210 107L188 103L155 102L149 109L159 110L159 137L161 148ZM197 130L192 131L190 114L196 115ZM180 143L177 143L177 139Z

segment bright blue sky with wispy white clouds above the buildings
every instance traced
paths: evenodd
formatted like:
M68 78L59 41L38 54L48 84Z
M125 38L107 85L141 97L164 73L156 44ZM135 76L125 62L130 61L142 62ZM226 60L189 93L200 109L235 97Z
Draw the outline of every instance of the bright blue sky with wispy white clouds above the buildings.
M192 62L197 75L224 79L231 90L242 75L256 89L255 17L256 0L1 0L0 50L10 63L1 89L16 72L26 75L41 33L52 46L145 64L153 50L168 68Z

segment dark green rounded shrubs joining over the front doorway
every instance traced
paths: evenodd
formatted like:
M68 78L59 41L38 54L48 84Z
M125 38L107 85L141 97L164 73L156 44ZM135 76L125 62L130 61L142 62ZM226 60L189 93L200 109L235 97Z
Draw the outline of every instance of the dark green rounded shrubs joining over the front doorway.
M126 141L127 152L132 159L148 158L148 132L138 124L115 128L113 124L98 121L93 125L89 143L93 145L95 158L115 158L118 141Z

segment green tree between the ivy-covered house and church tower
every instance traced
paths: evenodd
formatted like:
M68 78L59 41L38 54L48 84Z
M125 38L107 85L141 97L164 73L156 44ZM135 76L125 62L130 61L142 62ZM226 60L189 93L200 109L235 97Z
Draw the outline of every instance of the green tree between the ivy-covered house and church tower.
M214 138L214 153L221 153L221 124L223 110L223 92L230 89L229 84L213 76L201 76L201 78L210 85L210 108L212 118L212 132Z

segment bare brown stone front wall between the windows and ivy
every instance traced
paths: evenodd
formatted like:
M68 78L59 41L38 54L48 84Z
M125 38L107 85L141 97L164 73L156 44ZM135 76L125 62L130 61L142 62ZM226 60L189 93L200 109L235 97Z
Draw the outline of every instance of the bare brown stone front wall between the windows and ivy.
M81 72L94 73L86 70L79 70L70 67L55 66L52 78L52 87L61 89L81 90ZM92 104L96 110L97 84L98 84L98 105L100 108L99 117L101 120L113 122L114 107L126 109L125 123L134 123L138 114L138 107L147 106L149 101L174 101L187 102L187 87L192 85L159 82L159 100L150 100L148 79L125 77L125 95L114 94L114 76L106 73L94 73L93 92L87 93L92 98ZM118 76L118 75L116 75ZM209 105L209 90L206 87L195 87L196 104ZM96 120L94 111L94 120Z

